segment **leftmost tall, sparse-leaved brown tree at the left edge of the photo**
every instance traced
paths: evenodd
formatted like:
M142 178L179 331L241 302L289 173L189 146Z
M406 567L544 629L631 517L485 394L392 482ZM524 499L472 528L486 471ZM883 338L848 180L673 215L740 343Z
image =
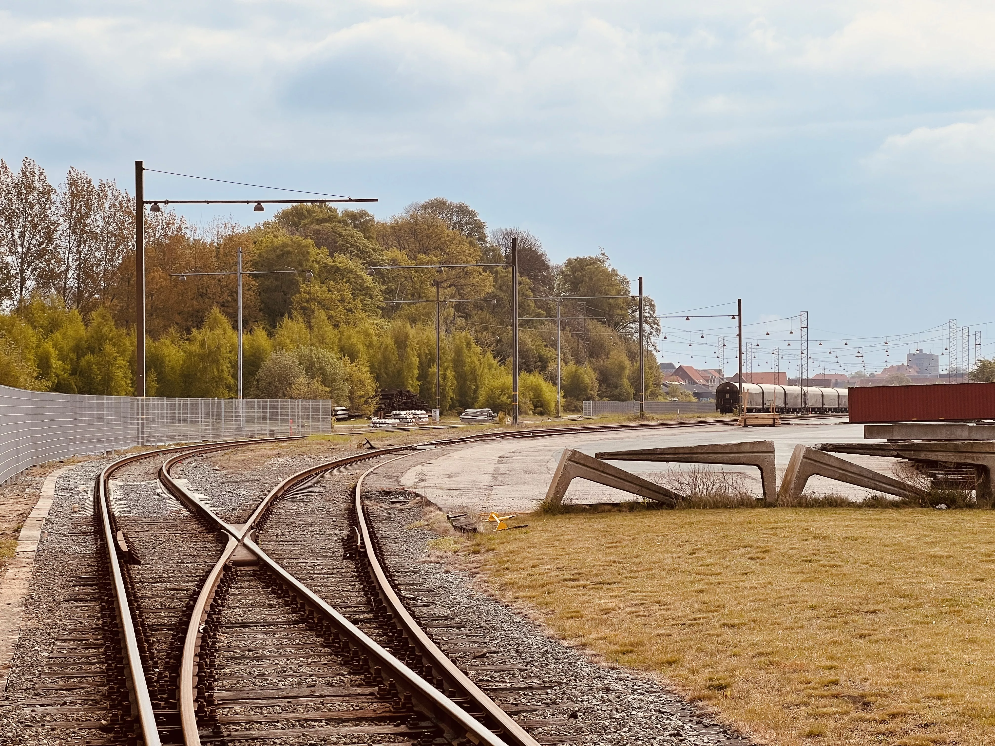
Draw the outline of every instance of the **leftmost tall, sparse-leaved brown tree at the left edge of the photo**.
M36 283L44 286L54 279L59 230L55 203L56 190L35 161L25 158L14 175L0 160L0 252L8 292L12 284L18 306Z

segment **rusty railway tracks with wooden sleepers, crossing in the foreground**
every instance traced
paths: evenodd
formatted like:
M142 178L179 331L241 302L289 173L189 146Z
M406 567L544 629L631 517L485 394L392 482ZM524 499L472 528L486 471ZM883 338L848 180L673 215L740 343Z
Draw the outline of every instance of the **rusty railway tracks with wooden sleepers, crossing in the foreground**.
M709 424L482 433L430 445ZM92 746L307 743L316 734L570 742L530 735L550 723L533 720L526 730L514 717L526 706L501 709L447 654L472 653L483 641L464 634L459 620L416 621L410 595L381 561L362 480L410 447L310 466L256 504L246 497L212 505L170 473L193 456L259 443L163 449L100 472L93 554L71 568L83 613L48 661L61 666L45 679L61 671L57 683L41 684L51 695L22 704L35 705L45 726L72 743ZM369 468L353 490L360 463ZM111 486L115 475L134 484L153 473L185 510Z

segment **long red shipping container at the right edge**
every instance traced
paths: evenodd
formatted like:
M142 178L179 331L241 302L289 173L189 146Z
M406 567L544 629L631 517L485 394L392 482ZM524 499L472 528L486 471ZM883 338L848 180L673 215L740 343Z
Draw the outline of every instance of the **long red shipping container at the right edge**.
M995 383L849 389L850 422L995 420Z

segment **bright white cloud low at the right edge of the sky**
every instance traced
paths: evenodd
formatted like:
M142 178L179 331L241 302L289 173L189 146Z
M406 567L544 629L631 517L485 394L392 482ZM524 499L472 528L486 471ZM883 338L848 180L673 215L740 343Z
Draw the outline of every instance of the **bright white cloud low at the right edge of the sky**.
M989 197L995 189L995 116L891 135L865 166L901 193L942 201Z

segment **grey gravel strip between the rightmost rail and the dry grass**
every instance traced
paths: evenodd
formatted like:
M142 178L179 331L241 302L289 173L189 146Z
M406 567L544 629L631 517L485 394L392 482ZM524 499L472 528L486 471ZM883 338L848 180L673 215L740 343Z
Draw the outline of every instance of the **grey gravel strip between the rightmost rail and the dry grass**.
M410 611L416 618L450 616L465 623L465 632L438 630L437 644L446 644L461 667L468 665L471 677L490 690L497 702L508 701L508 690L499 690L502 684L519 692L522 685L548 687L544 691L529 689L515 703L539 708L530 712L528 718L555 718L566 724L532 730L533 735L570 734L580 736L581 743L592 745L746 746L752 743L657 681L598 664L550 640L530 620L479 590L470 573L431 557L427 542L438 538L438 534L417 526L425 515L422 500L398 500L399 496L411 497L411 494L381 490L370 500L368 511L387 552L384 559L404 584L401 590L406 590L406 595L416 603L427 604L413 604ZM460 654L443 640L444 635L450 634L454 638L474 639L477 647ZM480 647L480 640L489 641L486 648ZM456 642L454 639L453 643ZM523 667L472 670L474 666L510 663Z

